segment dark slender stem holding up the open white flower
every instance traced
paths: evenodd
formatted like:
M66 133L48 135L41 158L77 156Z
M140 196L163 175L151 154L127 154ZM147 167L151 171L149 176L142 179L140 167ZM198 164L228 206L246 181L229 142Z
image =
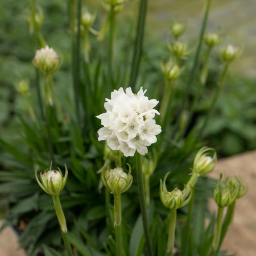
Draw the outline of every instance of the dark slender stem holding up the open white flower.
M139 204L141 205L141 214L142 214L142 221L143 221L144 236L145 236L146 246L147 246L147 253L149 256L153 256L151 239L150 239L150 230L149 230L148 220L147 220L141 155L138 152L136 152L136 167L137 167L137 179L138 179L138 190L139 190Z

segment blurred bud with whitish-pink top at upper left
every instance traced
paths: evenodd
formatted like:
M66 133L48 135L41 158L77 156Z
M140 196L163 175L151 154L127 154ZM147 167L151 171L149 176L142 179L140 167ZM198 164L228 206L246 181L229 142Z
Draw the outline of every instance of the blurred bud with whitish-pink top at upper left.
M38 68L44 75L51 75L60 68L59 56L48 46L36 50L35 57L32 61L36 68Z

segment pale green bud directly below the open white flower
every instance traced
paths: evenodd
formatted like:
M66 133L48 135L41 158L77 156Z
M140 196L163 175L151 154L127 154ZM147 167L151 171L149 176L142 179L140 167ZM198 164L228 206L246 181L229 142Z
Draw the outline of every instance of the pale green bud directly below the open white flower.
M127 191L133 183L133 176L131 176L130 169L129 166L129 172L126 174L121 167L116 167L111 170L106 167L101 172L101 181L111 193L121 194Z

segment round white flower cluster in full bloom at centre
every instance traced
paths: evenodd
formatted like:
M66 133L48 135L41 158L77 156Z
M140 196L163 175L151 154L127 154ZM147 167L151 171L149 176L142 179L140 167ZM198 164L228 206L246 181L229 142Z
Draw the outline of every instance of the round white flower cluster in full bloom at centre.
M137 94L127 88L114 90L111 98L106 98L104 107L106 113L97 115L104 126L98 130L98 140L107 141L112 150L121 150L125 156L147 153L147 146L156 142L156 135L161 132L161 126L156 125L153 109L158 101L148 100L144 96L146 90L142 87Z

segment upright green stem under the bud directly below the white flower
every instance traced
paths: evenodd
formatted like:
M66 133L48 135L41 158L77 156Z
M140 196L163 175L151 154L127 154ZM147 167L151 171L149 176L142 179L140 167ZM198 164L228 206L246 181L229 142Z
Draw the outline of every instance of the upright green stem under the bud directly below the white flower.
M115 227L115 241L117 243L117 256L122 256L122 209L121 209L121 195L114 194L114 227Z

